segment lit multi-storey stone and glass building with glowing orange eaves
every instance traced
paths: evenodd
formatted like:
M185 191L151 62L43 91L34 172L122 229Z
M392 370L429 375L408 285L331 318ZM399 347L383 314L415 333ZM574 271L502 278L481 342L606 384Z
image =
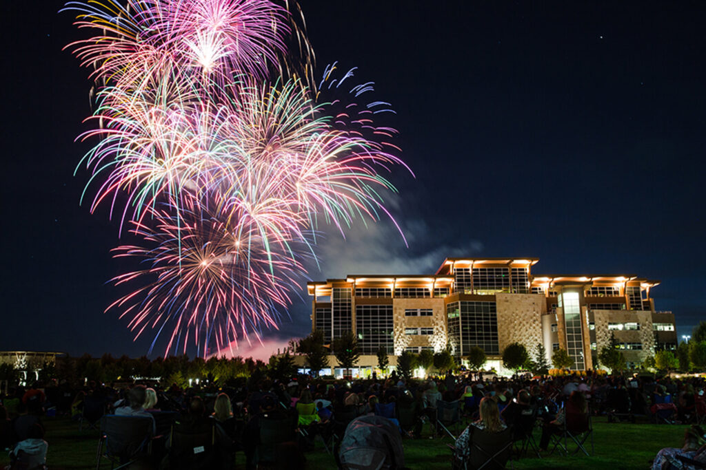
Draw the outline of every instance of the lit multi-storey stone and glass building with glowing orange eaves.
M347 276L308 283L311 327L325 342L353 331L361 366L375 366L384 347L391 364L403 351L457 358L481 347L491 363L520 342L547 359L562 348L573 369L594 369L597 352L611 341L639 364L655 347L676 349L671 312L656 311L650 297L659 282L632 275L535 275L536 258L448 258L422 276ZM335 362L335 361L334 361ZM370 364L368 364L368 362Z

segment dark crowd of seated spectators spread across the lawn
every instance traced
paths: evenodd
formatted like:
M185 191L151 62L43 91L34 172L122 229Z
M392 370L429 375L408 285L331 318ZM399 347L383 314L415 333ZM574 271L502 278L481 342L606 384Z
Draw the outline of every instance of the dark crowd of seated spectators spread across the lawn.
M614 419L631 416L653 417L654 405L674 405L673 422L696 423L698 406L704 400L702 378L677 380L625 376L565 376L532 378L478 376L475 374L430 377L424 381L405 381L391 377L366 381L322 381L297 376L288 381L253 378L233 386L158 384L132 385L86 383L72 387L56 382L30 388L14 388L2 398L0 440L11 450L13 462L32 457L44 462L42 416L66 414L77 421L91 419L85 411L88 402L100 403L101 414L138 416L151 419L152 452L143 462L152 468L175 468L181 459L177 431L196 432L213 429L213 460L210 468L232 468L235 452L243 452L249 469L258 462L273 459L280 468L303 468L305 452L312 450L320 436L327 449L340 442L347 424L357 416L383 416L395 423L402 438L421 438L424 425L431 435L443 435L437 421L441 403L457 402L469 426L455 441L457 459L466 459L474 430L502 433L517 425L527 409L542 427L539 448L549 451L552 435L561 433L570 416L607 414ZM174 421L160 428L160 413L172 412ZM94 416L95 418L95 416ZM271 420L278 420L289 433L289 443L274 455L261 445L262 431ZM95 420L94 420L95 421ZM174 431L174 430L177 431ZM659 452L654 469L688 469L686 459L706 458L702 428L688 428L685 446ZM170 461L170 459L172 459ZM686 463L685 463L686 462Z

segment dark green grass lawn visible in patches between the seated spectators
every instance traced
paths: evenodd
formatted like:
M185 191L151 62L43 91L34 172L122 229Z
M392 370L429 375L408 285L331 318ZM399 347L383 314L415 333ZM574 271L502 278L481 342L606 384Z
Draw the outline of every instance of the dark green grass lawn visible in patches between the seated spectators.
M67 418L44 418L49 443L47 464L57 469L95 469L97 431L78 431L78 423ZM648 462L662 447L681 447L684 425L656 425L606 423L605 418L594 419L595 452L592 457L577 454L572 457L544 457L513 462L515 469L647 469ZM424 427L429 432L429 426ZM539 442L539 431L535 435ZM411 469L450 469L450 452L446 444L450 438L404 440L405 463ZM572 447L570 447L571 449ZM316 441L316 450L306 454L309 469L335 469L333 456ZM237 455L237 469L244 469L244 455ZM106 460L102 466L109 469ZM0 465L8 463L7 454L0 456Z

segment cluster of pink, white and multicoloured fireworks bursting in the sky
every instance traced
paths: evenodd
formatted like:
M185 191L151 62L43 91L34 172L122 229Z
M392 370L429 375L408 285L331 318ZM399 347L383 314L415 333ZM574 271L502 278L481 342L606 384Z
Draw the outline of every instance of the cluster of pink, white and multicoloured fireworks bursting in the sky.
M298 8L298 7L297 7ZM287 8L268 0L128 0L67 4L95 32L69 47L97 92L85 155L91 210L110 204L144 246L116 256L148 268L117 276L141 287L109 308L136 336L168 337L167 352L221 349L262 328L315 256L323 218L343 230L388 214L378 173L402 161L389 111L340 97L353 70L313 85L313 52ZM302 22L303 23L303 19ZM292 39L297 54L289 54ZM296 59L296 60L295 60ZM358 97L371 83L349 86ZM93 188L93 189L92 189Z

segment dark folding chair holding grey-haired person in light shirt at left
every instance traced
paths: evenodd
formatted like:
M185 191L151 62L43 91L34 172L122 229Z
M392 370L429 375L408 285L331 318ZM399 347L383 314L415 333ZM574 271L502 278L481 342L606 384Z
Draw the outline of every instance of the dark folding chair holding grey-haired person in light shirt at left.
M96 452L96 470L103 457L122 469L136 462L140 455L151 450L152 419L143 416L116 416L106 414L100 419L100 439Z

